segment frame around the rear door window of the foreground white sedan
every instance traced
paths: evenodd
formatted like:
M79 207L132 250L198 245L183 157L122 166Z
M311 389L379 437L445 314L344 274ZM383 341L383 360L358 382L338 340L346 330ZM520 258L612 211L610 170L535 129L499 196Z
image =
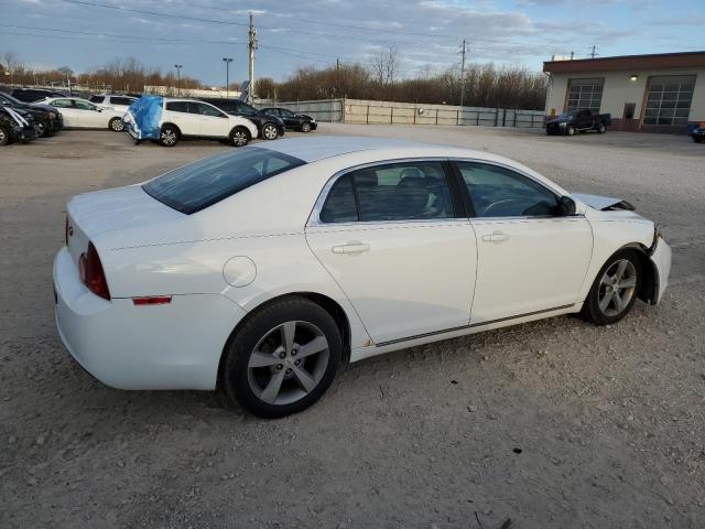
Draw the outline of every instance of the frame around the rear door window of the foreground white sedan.
M443 168L444 175L445 175L445 181L446 181L446 184L448 186L448 191L451 193L451 198L452 198L452 202L453 202L454 215L452 217L429 218L429 219L400 219L400 220L359 220L361 218L360 204L359 204L359 199L358 199L357 186L355 184L355 179L351 179L352 191L355 193L355 207L357 209L358 220L352 220L352 222L347 222L347 223L325 223L325 222L321 220L321 212L323 209L323 206L326 203L326 199L328 198L328 195L330 194L330 190L333 190L333 186L335 185L335 183L339 179L341 179L346 174L352 173L355 171L359 171L361 169L369 169L369 168L376 168L376 166L380 166L380 165L391 165L391 164L406 163L406 162L440 162L441 163L441 165ZM464 220L465 222L465 220L467 220L468 215L464 210L465 207L463 207L464 206L464 204L463 204L463 199L464 198L462 196L462 187L458 185L458 183L456 181L456 177L453 174L453 170L451 169L451 164L448 162L449 162L449 160L446 156L401 158L401 159L392 159L392 160L382 160L382 161L378 161L378 162L368 162L368 163L362 163L362 164L359 164L359 165L354 165L351 168L343 169L343 170L338 171L337 173L335 173L333 176L330 176L330 179L328 179L328 181L323 186L323 190L321 190L321 193L318 194L318 197L316 198L316 202L315 202L315 204L313 206L313 209L308 214L308 219L306 220L306 227L314 227L314 226L318 226L318 227L319 226L328 226L328 227L334 227L334 226L373 226L373 225L381 225L381 224L409 224L409 223L416 223L416 224L419 224L419 223L423 223L423 224L430 224L430 223L447 224L447 223L453 223L453 222L457 222L457 220ZM460 196L458 196L458 193L460 193Z

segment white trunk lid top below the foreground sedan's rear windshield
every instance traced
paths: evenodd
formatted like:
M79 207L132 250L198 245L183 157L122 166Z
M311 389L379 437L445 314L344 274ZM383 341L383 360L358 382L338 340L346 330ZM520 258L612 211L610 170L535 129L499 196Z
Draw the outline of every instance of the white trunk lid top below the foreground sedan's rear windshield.
M154 226L184 216L152 198L141 185L75 196L68 202L67 212L88 237L117 229Z

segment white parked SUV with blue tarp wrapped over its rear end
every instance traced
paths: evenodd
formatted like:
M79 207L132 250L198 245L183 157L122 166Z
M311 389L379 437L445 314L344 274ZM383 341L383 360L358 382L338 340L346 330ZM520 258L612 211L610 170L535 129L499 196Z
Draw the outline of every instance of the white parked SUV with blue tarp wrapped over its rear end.
M220 140L245 147L257 138L257 126L252 121L230 116L208 102L164 97L161 105L159 142L164 147L174 147L182 138ZM134 117L128 112L124 120L128 132L139 143L141 136Z

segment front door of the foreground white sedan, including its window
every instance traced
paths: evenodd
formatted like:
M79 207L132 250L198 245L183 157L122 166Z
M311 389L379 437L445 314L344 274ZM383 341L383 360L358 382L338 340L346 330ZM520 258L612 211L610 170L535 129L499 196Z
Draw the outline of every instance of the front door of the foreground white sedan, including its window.
M572 305L593 251L582 215L561 216L558 196L501 165L457 162L469 193L477 237L477 281L470 323Z

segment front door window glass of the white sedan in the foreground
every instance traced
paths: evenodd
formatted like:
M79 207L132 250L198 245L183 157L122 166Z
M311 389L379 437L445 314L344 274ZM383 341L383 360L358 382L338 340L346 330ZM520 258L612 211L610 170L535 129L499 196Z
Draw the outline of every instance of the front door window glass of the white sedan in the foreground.
M476 217L541 217L558 213L558 197L533 180L499 165L457 162Z

